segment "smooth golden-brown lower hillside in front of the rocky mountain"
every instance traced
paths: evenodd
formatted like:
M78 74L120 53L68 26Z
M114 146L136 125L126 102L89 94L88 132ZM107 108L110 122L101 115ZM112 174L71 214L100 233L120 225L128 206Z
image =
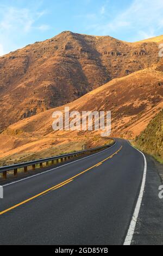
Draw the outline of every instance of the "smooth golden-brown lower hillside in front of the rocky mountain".
M112 114L111 136L135 138L146 128L149 121L163 108L163 60L153 68L116 78L104 86L80 97L67 106L76 111L109 111ZM99 132L54 132L52 113L64 106L19 121L1 135L1 160L30 159L48 155L59 145L72 142L94 143ZM93 137L93 138L88 138ZM67 146L66 146L67 147ZM35 155L37 152L37 155ZM46 152L46 154L45 154ZM48 151L49 152L49 151ZM30 157L28 157L30 156ZM3 162L2 161L2 162Z

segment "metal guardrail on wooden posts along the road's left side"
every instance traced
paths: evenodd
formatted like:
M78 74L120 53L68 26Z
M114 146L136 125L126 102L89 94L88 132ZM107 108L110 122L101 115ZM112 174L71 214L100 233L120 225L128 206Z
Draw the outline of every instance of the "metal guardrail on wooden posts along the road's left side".
M89 155L89 154L96 153L98 151L104 150L106 148L110 148L112 145L115 144L114 139L113 139L113 141L114 142L112 142L111 144L104 145L103 147L97 147L97 148L77 151L77 152L74 152L74 153L60 155L60 156L47 157L45 159L39 159L39 160L30 161L30 162L12 164L10 166L2 166L2 167L0 167L0 173L3 174L3 179L7 179L7 172L9 172L11 170L14 171L14 176L17 176L17 173L18 173L17 170L20 169L20 168L24 168L24 172L27 173L28 172L28 167L32 166L32 169L35 170L36 169L36 164L40 164L40 168L43 168L43 163L46 163L46 167L48 167L49 162L51 162L51 166L54 166L55 164L58 164L59 162L64 162L64 161L67 161L67 160L71 160L74 157Z

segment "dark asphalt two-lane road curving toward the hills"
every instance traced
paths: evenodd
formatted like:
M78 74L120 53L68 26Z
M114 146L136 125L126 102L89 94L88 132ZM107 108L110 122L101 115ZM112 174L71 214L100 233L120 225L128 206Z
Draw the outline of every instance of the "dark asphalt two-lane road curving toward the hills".
M127 141L4 186L0 245L121 245L143 178Z

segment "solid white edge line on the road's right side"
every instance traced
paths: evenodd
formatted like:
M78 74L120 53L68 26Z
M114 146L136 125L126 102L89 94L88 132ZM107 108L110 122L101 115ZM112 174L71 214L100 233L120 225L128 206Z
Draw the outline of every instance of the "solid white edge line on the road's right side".
M128 142L129 143L129 142ZM131 147L133 147L130 143L129 145ZM134 148L134 147L133 147ZM134 148L136 149L136 148ZM137 199L137 203L136 203L136 207L135 207L135 211L134 211L134 214L133 214L133 217L131 219L131 223L130 223L130 227L128 229L128 233L127 233L127 236L126 236L126 239L123 243L124 246L129 246L131 245L131 242L133 241L133 235L134 235L134 232L135 232L135 227L136 227L136 223L137 223L137 218L139 216L139 212L140 212L140 208L141 208L141 203L142 203L142 198L143 198L143 193L145 191L145 184L146 184L146 176L147 176L147 160L146 160L146 157L145 155L139 150L139 149L136 149L137 151L139 151L143 157L144 157L144 160L145 160L145 167L144 167L144 172L143 172L143 179L142 179L142 184L141 184L141 189L140 189L140 193L139 193L139 197Z

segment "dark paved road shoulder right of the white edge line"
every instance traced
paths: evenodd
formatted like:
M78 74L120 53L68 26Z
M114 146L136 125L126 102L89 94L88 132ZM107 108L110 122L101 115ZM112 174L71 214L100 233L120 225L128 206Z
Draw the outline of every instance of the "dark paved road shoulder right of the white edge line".
M146 159L146 186L132 245L163 245L163 199L158 196L163 166L151 156Z

